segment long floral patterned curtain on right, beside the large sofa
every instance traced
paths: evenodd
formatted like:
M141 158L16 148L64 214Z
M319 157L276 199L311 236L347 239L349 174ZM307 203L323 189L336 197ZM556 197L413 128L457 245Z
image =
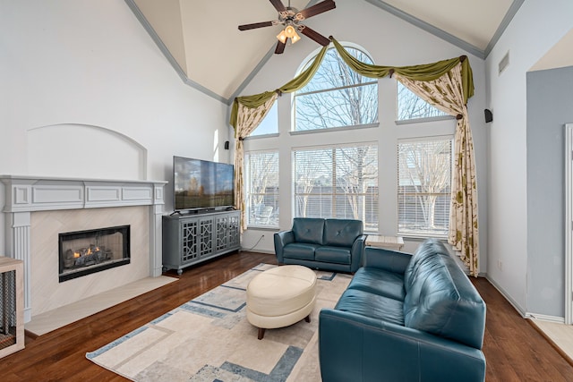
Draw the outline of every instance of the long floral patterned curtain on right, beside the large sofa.
M432 106L455 115L454 171L449 209L448 242L459 251L470 275L479 273L479 235L477 229L477 186L472 132L462 87L462 63L433 81L416 81L396 73L396 79Z

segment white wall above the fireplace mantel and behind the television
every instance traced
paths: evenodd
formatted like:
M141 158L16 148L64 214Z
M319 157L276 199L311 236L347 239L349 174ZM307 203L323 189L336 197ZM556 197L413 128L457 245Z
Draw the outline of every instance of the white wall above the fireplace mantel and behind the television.
M47 140L45 153L28 152L30 131L58 124L96 126L137 142L147 179L170 181L174 155L229 159L218 147L228 140L227 105L185 85L120 0L1 2L0 89L0 174L30 174L29 158L61 155L48 148L51 140L70 140L66 134ZM120 159L107 178L125 176L121 153L96 152ZM86 162L74 157L57 173L101 177ZM170 189L166 210L173 208ZM1 233L3 225L0 218Z

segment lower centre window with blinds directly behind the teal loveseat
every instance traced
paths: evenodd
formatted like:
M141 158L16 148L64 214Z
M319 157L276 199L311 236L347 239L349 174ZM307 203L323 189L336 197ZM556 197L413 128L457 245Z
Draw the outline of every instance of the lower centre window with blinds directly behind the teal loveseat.
M293 152L296 217L360 219L378 230L378 147L374 144Z

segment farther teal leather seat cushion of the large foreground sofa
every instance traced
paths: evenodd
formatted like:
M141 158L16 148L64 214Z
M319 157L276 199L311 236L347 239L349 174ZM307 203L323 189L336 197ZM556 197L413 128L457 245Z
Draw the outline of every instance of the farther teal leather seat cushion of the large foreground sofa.
M350 289L379 294L390 299L404 301L404 276L374 267L361 267L348 285Z

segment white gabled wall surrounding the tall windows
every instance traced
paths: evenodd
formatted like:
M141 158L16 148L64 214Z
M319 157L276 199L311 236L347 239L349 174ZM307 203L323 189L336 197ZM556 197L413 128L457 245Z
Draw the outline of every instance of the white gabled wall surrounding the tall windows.
M402 21L380 8L367 2L337 0L337 8L329 12L328 18L316 16L306 23L325 36L332 35L339 42L359 44L371 56L375 64L414 65L426 64L468 55L474 71L475 96L470 98L468 111L472 127L476 171L478 177L479 224L481 225L480 246L482 263L480 269L487 267L487 126L483 120L485 106L485 77L482 59L469 55L458 47L420 30L406 21ZM261 47L268 49L270 47ZM311 39L303 37L294 46L286 46L283 55L273 55L267 64L257 73L244 95L277 89L296 74L299 65L320 46ZM288 94L278 99L278 120L280 134L277 138L245 140L246 149L279 149L281 195L280 228L292 225L291 207L291 170L289 166L291 150L297 147L338 144L341 142L376 141L379 146L379 174L381 177L380 233L396 234L396 148L399 138L450 134L453 136L455 122L414 123L396 125L396 81L379 81L379 121L380 127L345 132L317 132L290 136L291 97ZM391 201L389 201L391 200ZM248 230L244 233L243 247L252 247L264 234L256 250L274 253L272 234L274 231ZM415 250L419 242L408 242L405 250Z

